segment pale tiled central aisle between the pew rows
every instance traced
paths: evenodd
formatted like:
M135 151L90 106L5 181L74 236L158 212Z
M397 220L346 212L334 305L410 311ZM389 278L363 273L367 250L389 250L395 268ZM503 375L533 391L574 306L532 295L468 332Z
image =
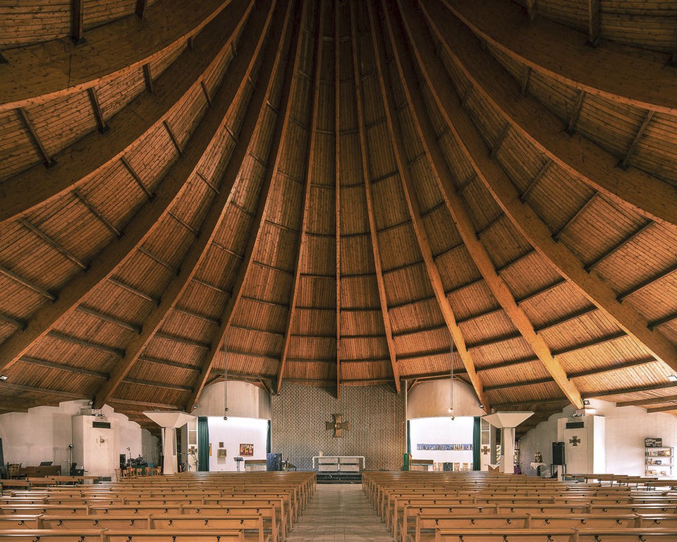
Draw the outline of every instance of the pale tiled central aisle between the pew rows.
M319 484L287 542L392 542L360 484Z

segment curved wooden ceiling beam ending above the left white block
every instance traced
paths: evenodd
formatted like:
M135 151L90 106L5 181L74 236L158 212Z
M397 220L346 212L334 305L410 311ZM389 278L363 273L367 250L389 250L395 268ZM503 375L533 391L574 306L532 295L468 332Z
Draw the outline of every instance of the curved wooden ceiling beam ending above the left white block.
M262 8L254 16L254 20L252 20L252 31L248 32L248 35L245 37L240 52L242 60L248 61L247 69L242 74L241 78L234 78L234 80L240 82L240 87L231 102L231 109L234 109L238 103L240 103L248 85L250 85L250 80L254 79L255 66L261 56L262 49L264 49L269 28L274 19L274 8L275 2L273 2L269 10ZM273 36L271 37L271 42L274 44L279 43L280 38L281 36ZM262 61L258 76L260 80L261 78L262 80L269 80L271 76L274 50L275 47L272 45L268 47L269 52ZM238 73L238 76L239 75L240 73ZM265 87L260 85L260 88L264 89ZM159 304L153 308L150 315L145 319L141 332L127 345L123 359L116 364L114 371L111 373L106 383L97 390L94 395L94 408L100 409L106 401L110 399L111 395L114 394L118 385L120 385L123 378L126 377L134 363L142 354L142 351L144 351L147 344L153 338L154 334L160 329L171 309L176 306L177 301L181 299L181 296L188 288L191 279L193 279L197 270L200 269L200 265L207 257L209 246L214 239L214 235L219 231L221 222L223 222L224 210L228 207L228 203L233 197L233 186L238 177L240 166L247 155L248 142L254 133L258 112L263 105L264 97L265 93L262 90L260 90L257 95L255 94L252 96L252 100L248 105L248 116L245 118L245 121L240 128L238 145L228 161L228 166L221 175L222 180L218 183L219 193L217 193L212 200L207 216L202 223L200 234L193 244L190 245L190 248L188 248L188 252L183 258L178 275L175 275L171 279L171 282L169 282L163 291ZM231 116L231 110L226 113L225 118L228 118L229 116Z

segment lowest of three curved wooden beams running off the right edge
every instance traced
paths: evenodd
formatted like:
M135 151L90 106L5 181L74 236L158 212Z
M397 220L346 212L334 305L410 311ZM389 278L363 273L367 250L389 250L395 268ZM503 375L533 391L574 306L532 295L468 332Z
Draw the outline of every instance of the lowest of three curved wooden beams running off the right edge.
M415 51L416 53L416 51ZM451 81L446 77L441 62L432 63L417 54L417 62L429 85L444 121L468 159L482 184L489 190L496 203L506 213L515 227L545 260L560 275L575 284L580 292L600 310L614 320L639 344L642 344L656 359L677 369L677 349L659 332L649 330L647 319L627 304L616 300L616 292L609 287L597 272L585 271L583 263L563 243L552 239L551 231L531 209L522 203L516 188L495 159L489 156L487 145L465 109Z

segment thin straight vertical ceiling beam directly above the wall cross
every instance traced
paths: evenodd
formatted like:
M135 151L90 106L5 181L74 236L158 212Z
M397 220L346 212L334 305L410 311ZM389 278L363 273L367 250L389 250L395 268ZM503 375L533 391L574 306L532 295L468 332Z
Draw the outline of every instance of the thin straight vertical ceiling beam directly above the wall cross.
M336 400L341 401L341 26L334 2L334 220L336 222Z

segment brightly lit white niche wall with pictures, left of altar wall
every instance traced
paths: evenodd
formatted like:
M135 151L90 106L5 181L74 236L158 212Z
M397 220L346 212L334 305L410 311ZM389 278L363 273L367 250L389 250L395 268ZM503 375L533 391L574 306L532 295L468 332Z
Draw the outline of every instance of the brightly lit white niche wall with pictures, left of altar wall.
M212 442L212 457L209 457L210 471L236 471L235 457L240 455L240 444L253 444L254 455L244 459L266 459L266 441L268 438L268 421L255 418L224 418L210 416L209 442ZM218 457L219 442L224 443L226 457ZM244 463L240 470L245 470Z

